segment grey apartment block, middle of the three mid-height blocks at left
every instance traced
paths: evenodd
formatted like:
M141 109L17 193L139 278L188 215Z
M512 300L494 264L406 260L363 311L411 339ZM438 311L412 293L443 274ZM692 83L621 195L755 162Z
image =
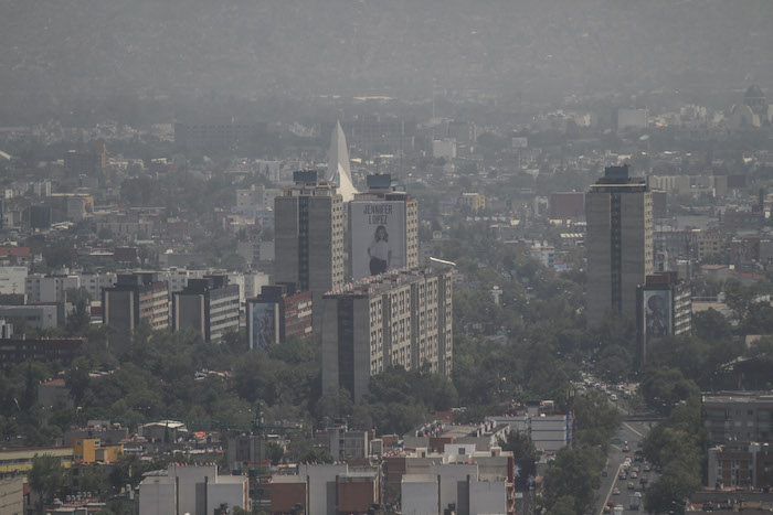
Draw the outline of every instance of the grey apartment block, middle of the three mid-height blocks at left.
M204 342L219 342L229 331L239 331L239 286L227 276L188 279L188 286L172 294L172 328L191 328Z

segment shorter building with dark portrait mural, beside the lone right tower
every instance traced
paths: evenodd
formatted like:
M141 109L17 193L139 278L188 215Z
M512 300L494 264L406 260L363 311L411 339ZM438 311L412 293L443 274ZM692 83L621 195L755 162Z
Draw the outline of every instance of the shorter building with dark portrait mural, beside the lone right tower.
M639 367L647 361L647 350L655 341L682 334L692 328L692 297L689 287L675 271L647 276L637 292Z

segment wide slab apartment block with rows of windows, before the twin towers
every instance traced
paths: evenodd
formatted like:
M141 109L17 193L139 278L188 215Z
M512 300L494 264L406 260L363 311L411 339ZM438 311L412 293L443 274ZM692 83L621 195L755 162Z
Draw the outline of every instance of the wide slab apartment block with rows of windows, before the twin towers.
M332 291L322 298L321 333L322 388L346 388L354 401L390 366L449 375L451 272L393 272Z

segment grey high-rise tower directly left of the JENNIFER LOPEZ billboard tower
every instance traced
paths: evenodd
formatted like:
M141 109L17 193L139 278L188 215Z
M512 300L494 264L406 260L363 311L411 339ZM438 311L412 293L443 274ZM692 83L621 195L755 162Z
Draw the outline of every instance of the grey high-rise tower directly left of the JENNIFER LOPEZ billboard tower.
M343 201L316 171L293 174L274 200L276 282L321 296L343 286Z

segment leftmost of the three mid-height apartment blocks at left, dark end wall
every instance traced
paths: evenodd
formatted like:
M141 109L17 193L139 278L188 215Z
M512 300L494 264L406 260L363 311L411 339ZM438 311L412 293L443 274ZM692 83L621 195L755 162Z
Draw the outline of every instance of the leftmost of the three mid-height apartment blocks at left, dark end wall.
M167 281L153 272L119 273L115 286L102 290L102 322L115 331L110 346L118 353L128 350L134 330L147 322L153 330L169 326Z

